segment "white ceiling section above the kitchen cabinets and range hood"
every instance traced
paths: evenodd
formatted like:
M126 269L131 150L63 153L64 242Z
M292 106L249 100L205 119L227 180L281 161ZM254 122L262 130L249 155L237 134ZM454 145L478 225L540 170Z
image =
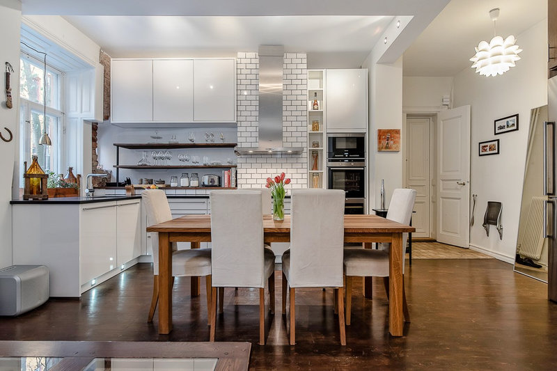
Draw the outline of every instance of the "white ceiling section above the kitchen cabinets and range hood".
M258 45L307 52L311 68L359 67L393 17L65 16L113 58L235 56ZM342 54L341 54L342 53Z

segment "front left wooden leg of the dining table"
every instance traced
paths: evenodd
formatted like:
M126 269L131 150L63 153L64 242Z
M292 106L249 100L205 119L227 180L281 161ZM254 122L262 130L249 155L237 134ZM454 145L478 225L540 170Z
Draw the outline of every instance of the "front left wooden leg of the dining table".
M159 333L172 331L172 246L159 232Z

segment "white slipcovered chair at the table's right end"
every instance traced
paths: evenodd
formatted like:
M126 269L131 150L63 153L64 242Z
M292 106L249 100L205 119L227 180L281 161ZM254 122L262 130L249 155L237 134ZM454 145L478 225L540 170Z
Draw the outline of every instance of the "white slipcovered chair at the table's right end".
M416 200L416 190L414 189L395 189L391 196L389 212L386 219L397 221L408 225L414 209ZM402 234L402 310L406 322L410 322L410 315L406 303L406 293L404 284L405 269L405 246L408 233ZM379 244L377 250L367 248L345 248L344 251L344 272L346 275L346 324L350 324L352 310L352 281L354 276L359 277L383 277L387 297L389 297L389 248L391 244Z

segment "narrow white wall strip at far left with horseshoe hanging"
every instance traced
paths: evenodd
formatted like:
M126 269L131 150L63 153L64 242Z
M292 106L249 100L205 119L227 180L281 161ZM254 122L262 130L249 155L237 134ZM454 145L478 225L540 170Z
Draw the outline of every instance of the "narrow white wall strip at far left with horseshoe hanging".
M0 50L2 62L13 65L15 72L11 74L10 85L12 88L13 108L6 108L6 95L3 92L0 104L0 130L8 138L4 127L13 132L13 140L9 143L0 141L0 173L3 180L0 182L0 268L12 264L12 184L10 174L17 168L15 156L19 149L19 125L17 125L19 109L19 27L21 24L21 3L17 0L0 0ZM3 67L3 66L2 66ZM2 74L3 77L3 74ZM2 78L1 81L4 81ZM15 180L18 182L19 180ZM17 183L16 183L17 184ZM29 226L33 228L33 226Z

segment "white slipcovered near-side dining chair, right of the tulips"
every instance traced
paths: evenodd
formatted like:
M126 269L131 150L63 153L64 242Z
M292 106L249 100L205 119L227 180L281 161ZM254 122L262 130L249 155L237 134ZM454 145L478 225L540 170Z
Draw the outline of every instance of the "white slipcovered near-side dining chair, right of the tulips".
M346 345L343 294L345 193L334 189L293 189L290 249L283 253L282 308L290 286L290 345L296 343L295 293L299 287L334 287L340 344Z

